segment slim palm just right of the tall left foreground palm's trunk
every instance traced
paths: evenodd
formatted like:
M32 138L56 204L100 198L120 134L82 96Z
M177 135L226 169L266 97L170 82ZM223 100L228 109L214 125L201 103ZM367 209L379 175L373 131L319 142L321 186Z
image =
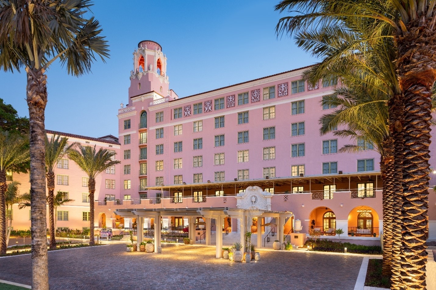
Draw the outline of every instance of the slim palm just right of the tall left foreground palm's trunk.
M76 144L74 142L68 145L68 138L61 138L59 135L53 135L50 140L48 140L47 135L45 135L45 166L47 167L47 189L48 189L48 230L50 233L50 249L56 249L56 238L55 238L55 212L56 206L54 202L54 168L57 166L58 162L67 154L67 152Z

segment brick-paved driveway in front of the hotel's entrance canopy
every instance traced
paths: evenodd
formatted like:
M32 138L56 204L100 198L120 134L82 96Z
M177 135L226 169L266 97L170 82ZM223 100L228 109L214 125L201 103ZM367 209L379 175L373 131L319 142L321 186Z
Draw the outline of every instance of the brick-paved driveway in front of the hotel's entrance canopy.
M50 289L352 290L361 256L260 250L257 263L216 259L215 248L162 244L162 254L124 244L50 252ZM0 280L31 284L31 256L0 258Z

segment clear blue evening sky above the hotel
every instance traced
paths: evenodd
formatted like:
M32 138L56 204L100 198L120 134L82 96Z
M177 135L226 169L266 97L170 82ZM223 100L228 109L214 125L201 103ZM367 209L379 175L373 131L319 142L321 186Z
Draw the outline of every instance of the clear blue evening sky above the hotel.
M127 4L128 3L128 4ZM48 75L45 127L91 137L118 135L119 104L128 101L132 53L153 40L167 56L179 97L289 71L316 62L289 37L277 38L277 1L95 0L92 12L109 41L110 58L79 78L57 62ZM24 70L23 70L24 71ZM28 116L26 74L0 72L0 98Z

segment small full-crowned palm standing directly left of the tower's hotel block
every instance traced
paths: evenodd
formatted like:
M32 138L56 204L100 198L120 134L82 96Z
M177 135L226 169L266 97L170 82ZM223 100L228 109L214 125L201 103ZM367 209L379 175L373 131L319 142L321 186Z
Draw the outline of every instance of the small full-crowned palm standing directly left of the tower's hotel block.
M68 158L73 160L89 177L89 244L94 245L94 193L95 193L95 178L97 175L116 165L119 160L112 160L115 152L100 148L95 150L95 146L82 146L73 148L68 152Z

